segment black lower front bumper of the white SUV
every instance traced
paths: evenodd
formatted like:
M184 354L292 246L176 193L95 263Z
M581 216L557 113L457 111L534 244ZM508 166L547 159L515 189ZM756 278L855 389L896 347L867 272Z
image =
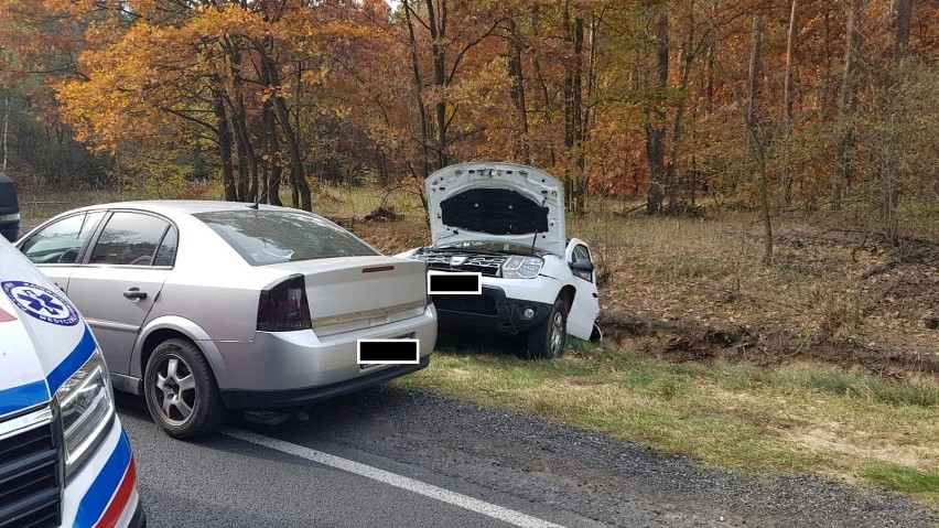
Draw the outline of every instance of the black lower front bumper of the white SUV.
M499 287L483 284L482 293L433 295L438 323L452 330L477 330L501 334L526 332L543 322L552 303L512 299ZM533 315L527 317L527 309Z

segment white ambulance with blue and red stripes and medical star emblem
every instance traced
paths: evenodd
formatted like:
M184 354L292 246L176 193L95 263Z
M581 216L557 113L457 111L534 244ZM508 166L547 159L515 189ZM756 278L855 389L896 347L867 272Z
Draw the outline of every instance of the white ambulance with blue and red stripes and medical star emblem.
M0 528L144 527L110 376L75 306L0 237Z

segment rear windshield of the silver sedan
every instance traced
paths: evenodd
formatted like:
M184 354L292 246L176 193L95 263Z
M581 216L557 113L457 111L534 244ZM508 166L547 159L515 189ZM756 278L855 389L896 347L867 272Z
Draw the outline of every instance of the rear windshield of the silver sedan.
M380 255L320 217L284 211L218 211L193 215L252 266Z

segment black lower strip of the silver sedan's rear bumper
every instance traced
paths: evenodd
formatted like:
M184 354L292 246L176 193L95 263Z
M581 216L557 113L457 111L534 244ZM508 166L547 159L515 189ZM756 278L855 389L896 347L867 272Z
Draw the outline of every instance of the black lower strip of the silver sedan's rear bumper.
M398 365L384 368L375 374L360 376L357 378L339 381L332 385L320 387L306 387L302 389L290 390L225 390L222 392L222 400L225 407L229 409L246 409L246 408L283 408L283 407L303 407L317 401L327 400L337 396L355 392L356 390L371 387L374 385L384 384L395 378L404 376L425 368L430 365L430 356L421 358L421 363L417 365Z

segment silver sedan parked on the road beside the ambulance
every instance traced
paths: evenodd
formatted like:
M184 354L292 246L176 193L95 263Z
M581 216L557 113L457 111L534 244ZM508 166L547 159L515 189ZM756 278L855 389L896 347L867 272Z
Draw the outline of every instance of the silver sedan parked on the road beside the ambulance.
M423 262L296 209L104 204L17 245L85 315L115 388L144 395L175 438L212 431L228 409L265 416L403 376L436 341ZM398 360L363 363L361 342Z

